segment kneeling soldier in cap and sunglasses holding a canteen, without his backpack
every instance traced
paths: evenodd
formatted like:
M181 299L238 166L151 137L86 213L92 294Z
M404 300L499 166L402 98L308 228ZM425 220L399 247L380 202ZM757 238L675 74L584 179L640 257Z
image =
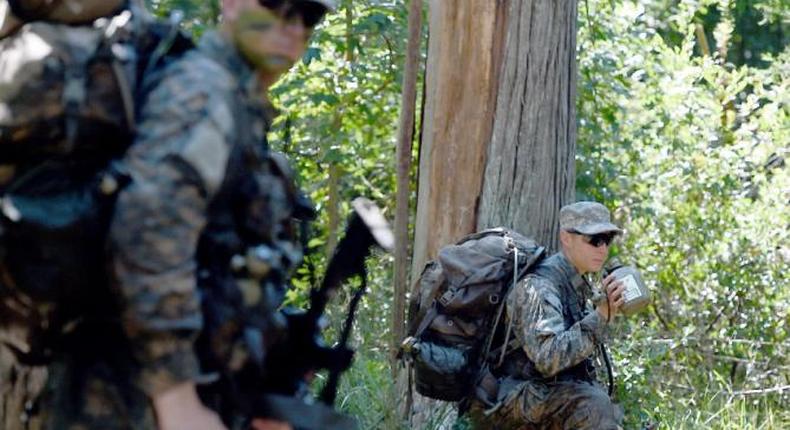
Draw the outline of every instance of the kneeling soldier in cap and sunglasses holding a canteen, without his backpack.
M592 309L593 290L584 275L602 269L622 230L596 202L564 206L560 229L561 251L508 297L515 347L495 375L498 390L491 392L491 403L471 405L470 417L480 428L620 428L622 411L596 382L592 357L623 304L624 287L606 277L607 298Z

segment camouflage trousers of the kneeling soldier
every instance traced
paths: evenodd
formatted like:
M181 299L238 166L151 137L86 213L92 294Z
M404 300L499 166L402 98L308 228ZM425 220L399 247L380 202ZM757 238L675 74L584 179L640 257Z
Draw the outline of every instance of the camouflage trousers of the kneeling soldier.
M500 406L486 415L473 401L468 416L476 429L496 430L618 430L622 408L600 385L585 381L503 384Z

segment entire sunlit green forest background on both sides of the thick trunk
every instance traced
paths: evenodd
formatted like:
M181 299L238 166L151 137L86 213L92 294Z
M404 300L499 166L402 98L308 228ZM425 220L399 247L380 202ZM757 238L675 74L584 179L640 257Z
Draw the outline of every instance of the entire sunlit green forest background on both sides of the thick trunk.
M216 0L149 3L163 16L182 10L195 37L219 19ZM272 145L294 161L321 214L315 276L352 198L395 212L408 6L340 0L273 91ZM582 0L577 28L575 197L613 209L627 231L614 254L654 294L648 311L616 322L609 345L626 428L790 428L790 1ZM291 304L306 303L308 266ZM338 396L365 429L410 426L393 382L392 266L390 256L370 262L356 361ZM349 298L331 306L330 341Z

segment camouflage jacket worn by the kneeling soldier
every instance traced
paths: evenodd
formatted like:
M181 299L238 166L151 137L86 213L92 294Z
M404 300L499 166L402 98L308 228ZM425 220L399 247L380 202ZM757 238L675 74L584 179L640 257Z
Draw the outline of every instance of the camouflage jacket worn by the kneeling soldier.
M518 372L544 380L591 377L590 358L606 331L606 322L589 305L591 294L562 253L540 263L512 291L507 316L526 354Z

